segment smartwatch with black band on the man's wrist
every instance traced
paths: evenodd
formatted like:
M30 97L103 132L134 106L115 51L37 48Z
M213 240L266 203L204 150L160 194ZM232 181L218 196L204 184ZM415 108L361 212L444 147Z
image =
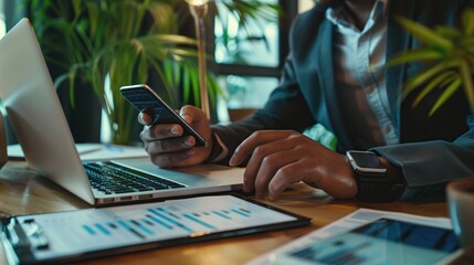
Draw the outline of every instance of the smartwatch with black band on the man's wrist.
M346 152L354 169L357 182L356 199L369 202L394 201L401 197L405 188L404 178L390 177L387 168L372 151Z

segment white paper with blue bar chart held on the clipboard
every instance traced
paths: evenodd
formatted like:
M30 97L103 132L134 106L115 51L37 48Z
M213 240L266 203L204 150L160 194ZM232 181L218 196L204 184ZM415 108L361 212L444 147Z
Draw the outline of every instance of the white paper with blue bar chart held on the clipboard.
M294 221L296 218L232 195L86 209L18 218L41 227L48 244L38 259Z

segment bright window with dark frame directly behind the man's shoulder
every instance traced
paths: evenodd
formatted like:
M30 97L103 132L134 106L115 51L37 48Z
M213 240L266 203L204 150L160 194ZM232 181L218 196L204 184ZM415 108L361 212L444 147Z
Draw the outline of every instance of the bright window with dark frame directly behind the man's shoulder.
M314 6L314 0L263 2L278 3L284 15L275 21L253 21L257 31L239 29L239 21L232 15L223 15L228 18L224 21L215 20L214 63L211 68L225 93L225 98L220 98L218 103L219 121L229 121L228 110L232 113L263 107L278 85L288 53L287 39L292 21L298 12ZM262 33L266 42L262 41Z

